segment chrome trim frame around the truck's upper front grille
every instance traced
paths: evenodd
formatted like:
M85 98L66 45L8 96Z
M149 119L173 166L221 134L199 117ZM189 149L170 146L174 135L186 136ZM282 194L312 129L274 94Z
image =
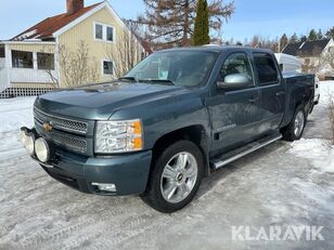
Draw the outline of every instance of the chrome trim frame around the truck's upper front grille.
M70 119L70 118L62 117L62 116L50 115L50 114L47 114L47 113L34 107L34 118L36 120L38 120L40 123L50 122L50 121L41 120L41 117L38 113L41 114L41 116L44 116L46 119L54 118L54 119L61 120L63 122L80 123L84 127L84 129L70 129L70 128L66 128L62 124L56 124L56 123L52 124L53 128L55 128L55 129L64 130L64 131L67 131L67 132L80 133L80 134L87 134L88 133L88 122L80 121L80 120L74 120L74 119ZM73 126L73 127L75 127L75 126Z

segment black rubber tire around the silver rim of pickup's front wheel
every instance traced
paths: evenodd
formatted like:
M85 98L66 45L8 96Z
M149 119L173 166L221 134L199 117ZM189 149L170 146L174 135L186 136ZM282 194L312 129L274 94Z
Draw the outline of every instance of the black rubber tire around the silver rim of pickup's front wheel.
M197 175L196 177L193 177L192 182L192 189L190 193L179 202L169 202L167 199L164 198L163 195L163 173L165 170L165 167L167 167L167 163L169 163L175 157L177 157L179 154L189 153L191 154L192 160L195 159L196 161L196 169L197 169ZM195 165L192 165L195 166ZM146 190L143 195L141 195L142 200L147 203L153 209L163 212L163 213L172 213L176 212L182 208L184 208L188 203L192 201L194 198L200 185L201 181L203 179L204 173L204 161L203 161L203 155L198 147L193 144L190 141L179 141L170 146L168 146L166 149L164 149L160 155L157 157L157 159L153 162L152 166L152 173L147 183ZM192 167L195 168L195 167ZM183 176L183 175L182 175ZM183 176L183 182L185 183L188 181L188 177L185 175ZM177 177L176 177L177 180ZM195 181L194 181L195 180ZM194 184L193 184L194 183ZM179 192L179 190L177 190ZM176 194L176 190L175 190ZM181 193L180 193L181 194Z

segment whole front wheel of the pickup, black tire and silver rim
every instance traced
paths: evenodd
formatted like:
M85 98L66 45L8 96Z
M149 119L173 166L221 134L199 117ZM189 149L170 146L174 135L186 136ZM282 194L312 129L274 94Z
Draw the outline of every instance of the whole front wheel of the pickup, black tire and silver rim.
M204 173L203 156L195 144L171 144L152 167L146 190L141 195L145 203L159 212L172 213L192 201Z

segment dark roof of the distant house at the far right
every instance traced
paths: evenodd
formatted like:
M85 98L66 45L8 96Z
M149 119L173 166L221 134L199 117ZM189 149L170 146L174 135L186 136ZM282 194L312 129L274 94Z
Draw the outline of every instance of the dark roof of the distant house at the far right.
M322 53L331 39L322 39L316 41L305 41L287 44L282 53L299 56L317 56Z

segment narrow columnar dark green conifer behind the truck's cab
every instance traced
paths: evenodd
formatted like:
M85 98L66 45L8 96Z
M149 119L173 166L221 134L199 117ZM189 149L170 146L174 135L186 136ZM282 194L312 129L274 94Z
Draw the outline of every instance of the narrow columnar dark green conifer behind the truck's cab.
M206 0L198 0L193 35L193 45L203 45L210 42L208 27L208 9Z

